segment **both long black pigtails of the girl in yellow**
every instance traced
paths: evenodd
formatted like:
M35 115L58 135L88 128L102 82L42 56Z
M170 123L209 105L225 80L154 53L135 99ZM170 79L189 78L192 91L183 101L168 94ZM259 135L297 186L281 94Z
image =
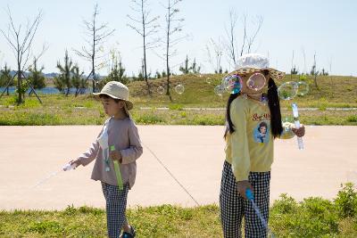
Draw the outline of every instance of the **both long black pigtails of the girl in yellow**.
M268 70L262 71L264 75L268 75ZM226 131L224 133L224 138L228 135L228 133L232 134L235 132L234 125L232 120L230 119L230 104L237 98L240 94L230 94L227 102L226 109L226 121L228 125L226 126ZM278 87L275 84L272 78L268 80L268 105L270 108L270 125L271 125L271 134L274 138L281 135L283 131L283 126L281 125L281 112L280 112L280 103L278 99Z

